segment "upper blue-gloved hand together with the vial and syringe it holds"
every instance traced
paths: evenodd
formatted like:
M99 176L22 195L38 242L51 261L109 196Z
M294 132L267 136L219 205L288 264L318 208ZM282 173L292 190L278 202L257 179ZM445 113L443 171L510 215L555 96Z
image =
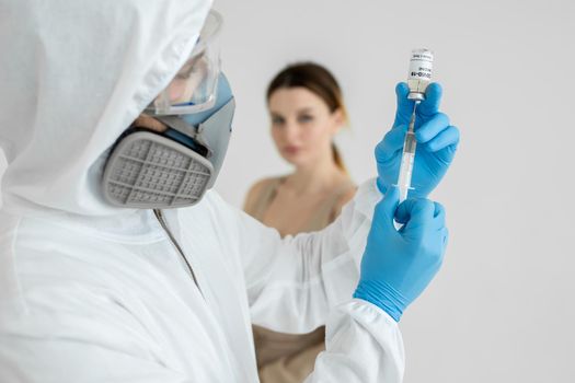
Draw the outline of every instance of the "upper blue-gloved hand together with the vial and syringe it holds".
M400 188L400 201L426 198L446 174L457 151L459 130L439 112L441 86L432 83L433 54L412 53L407 83L395 88L393 127L376 147L378 187Z

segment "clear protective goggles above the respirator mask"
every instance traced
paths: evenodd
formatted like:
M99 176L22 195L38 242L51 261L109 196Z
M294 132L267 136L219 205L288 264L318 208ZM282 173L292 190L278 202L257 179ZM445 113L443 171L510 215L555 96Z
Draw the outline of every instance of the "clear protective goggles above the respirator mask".
M146 108L146 114L184 115L214 106L220 73L221 23L221 15L210 11L189 58L170 84Z

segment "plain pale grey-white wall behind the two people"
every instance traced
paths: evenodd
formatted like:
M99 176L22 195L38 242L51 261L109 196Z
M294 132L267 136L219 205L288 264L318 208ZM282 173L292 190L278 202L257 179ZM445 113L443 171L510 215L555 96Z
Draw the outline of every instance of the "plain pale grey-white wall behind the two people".
M406 383L573 382L575 376L575 2L215 0L238 111L220 193L289 171L268 136L264 92L311 59L344 88L340 138L357 182L375 174L393 88L412 48L436 54L444 109L460 127L435 199L451 232L445 266L401 327Z

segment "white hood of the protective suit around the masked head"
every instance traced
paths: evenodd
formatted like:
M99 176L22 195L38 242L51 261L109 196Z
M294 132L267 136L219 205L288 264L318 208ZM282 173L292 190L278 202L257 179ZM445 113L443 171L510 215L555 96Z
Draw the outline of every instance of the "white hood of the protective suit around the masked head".
M110 216L106 151L175 76L210 0L0 0L3 209Z

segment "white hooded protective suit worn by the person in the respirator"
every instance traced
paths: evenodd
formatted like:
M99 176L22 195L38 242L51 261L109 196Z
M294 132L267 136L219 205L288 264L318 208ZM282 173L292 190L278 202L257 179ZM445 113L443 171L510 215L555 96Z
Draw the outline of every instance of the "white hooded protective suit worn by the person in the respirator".
M309 382L400 382L396 323L352 299L380 198L281 240L215 193L106 205L106 150L196 42L207 0L0 0L0 382L257 382L251 323L327 323ZM231 31L228 33L232 33Z

